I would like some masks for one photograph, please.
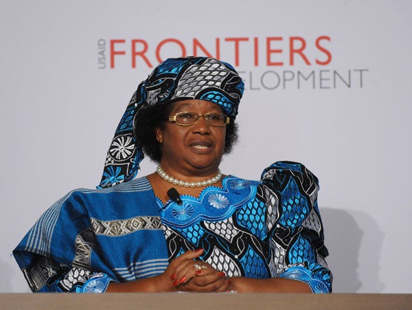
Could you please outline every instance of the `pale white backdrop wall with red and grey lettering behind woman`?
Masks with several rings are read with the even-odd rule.
[[[28,291],[11,252],[34,221],[100,181],[146,60],[185,52],[246,81],[223,172],[319,177],[334,291],[411,293],[411,17],[409,0],[1,1],[0,291]]]

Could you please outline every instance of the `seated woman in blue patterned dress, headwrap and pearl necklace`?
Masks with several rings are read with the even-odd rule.
[[[214,58],[168,59],[141,82],[98,190],[54,204],[14,250],[33,291],[329,292],[317,178],[277,162],[222,175],[243,82]],[[157,171],[133,179],[146,153]]]

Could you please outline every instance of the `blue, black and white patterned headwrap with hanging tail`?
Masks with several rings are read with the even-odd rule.
[[[137,175],[144,154],[133,134],[133,120],[139,110],[179,100],[199,99],[218,104],[230,118],[236,118],[244,83],[236,70],[207,57],[169,58],[139,84],[117,126],[108,148],[102,181],[107,188]],[[135,124],[139,126],[139,124]]]

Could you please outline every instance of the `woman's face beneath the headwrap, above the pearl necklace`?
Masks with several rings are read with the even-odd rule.
[[[222,113],[222,109],[205,100],[183,100],[174,102],[169,115],[179,112],[203,115]],[[190,126],[165,122],[163,129],[156,129],[157,141],[161,143],[161,166],[174,175],[214,174],[225,151],[225,135],[226,127],[210,126],[203,117]]]

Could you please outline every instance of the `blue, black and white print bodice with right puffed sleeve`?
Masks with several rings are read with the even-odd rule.
[[[317,178],[303,165],[277,162],[262,181],[225,177],[222,188],[205,188],[182,205],[160,199],[170,260],[203,248],[200,257],[227,274],[293,278],[316,293],[332,290],[325,262]]]

